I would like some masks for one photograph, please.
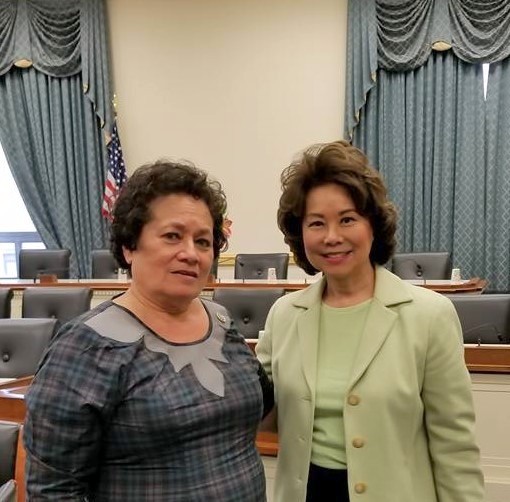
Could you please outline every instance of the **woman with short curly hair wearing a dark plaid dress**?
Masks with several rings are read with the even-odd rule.
[[[221,306],[199,298],[225,245],[221,186],[142,166],[113,211],[129,289],[63,326],[26,396],[34,501],[262,502],[272,387]]]

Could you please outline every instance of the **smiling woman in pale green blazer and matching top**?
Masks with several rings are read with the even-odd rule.
[[[269,313],[275,502],[482,502],[471,384],[451,302],[383,268],[396,211],[361,151],[307,150],[282,174],[278,224],[317,283]]]

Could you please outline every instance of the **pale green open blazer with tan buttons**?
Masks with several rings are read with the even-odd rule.
[[[325,280],[272,307],[256,352],[275,385],[275,502],[305,502]],[[344,410],[351,501],[482,502],[471,381],[448,298],[377,267]]]

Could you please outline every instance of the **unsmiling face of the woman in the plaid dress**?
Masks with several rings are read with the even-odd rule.
[[[149,301],[186,303],[204,288],[213,262],[213,220],[204,201],[186,194],[158,197],[136,249],[124,248],[133,286]]]

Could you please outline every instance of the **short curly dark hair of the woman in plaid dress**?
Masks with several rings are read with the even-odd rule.
[[[172,194],[191,195],[204,201],[213,220],[214,258],[226,247],[223,219],[227,200],[220,183],[191,163],[158,160],[139,167],[115,202],[110,248],[122,268],[130,269],[123,248],[136,249],[142,228],[151,218],[150,203],[157,197]]]

